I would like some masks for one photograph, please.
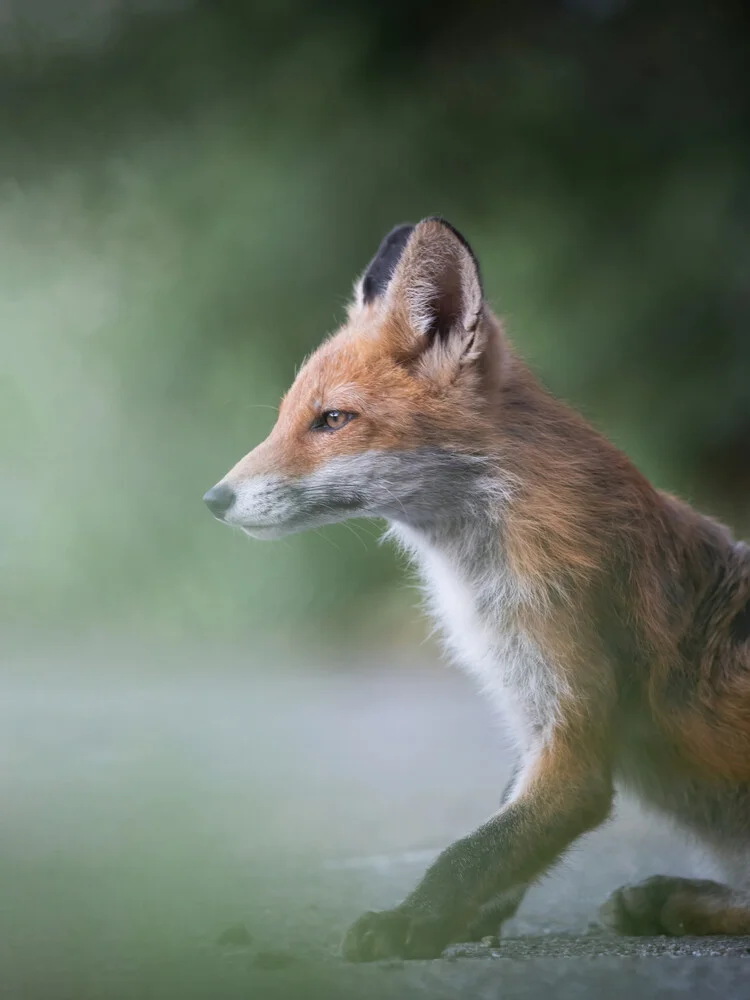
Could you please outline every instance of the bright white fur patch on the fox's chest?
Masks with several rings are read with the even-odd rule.
[[[518,626],[532,598],[501,555],[465,542],[435,545],[403,525],[391,534],[417,564],[447,648],[502,711],[522,749],[544,742],[558,715],[560,678]],[[479,546],[478,546],[479,548]]]

